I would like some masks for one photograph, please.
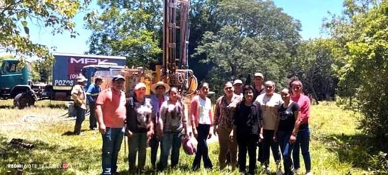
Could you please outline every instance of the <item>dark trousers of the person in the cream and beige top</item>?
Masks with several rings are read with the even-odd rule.
[[[275,163],[280,163],[280,151],[279,151],[279,142],[274,141],[274,130],[264,130],[263,131],[263,159],[264,164],[268,166],[270,164],[270,147],[272,154],[274,155]]]

